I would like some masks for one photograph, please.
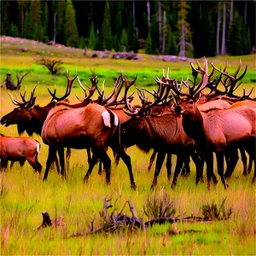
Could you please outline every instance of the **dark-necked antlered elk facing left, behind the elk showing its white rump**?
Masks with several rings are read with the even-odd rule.
[[[71,86],[73,84],[73,81],[77,78],[77,75],[73,78],[69,78],[69,73],[67,71],[67,90],[65,97],[63,97],[60,100],[64,100],[71,92]],[[49,113],[49,110],[53,107],[53,99],[44,107],[40,107],[38,105],[35,105],[36,101],[36,96],[34,96],[36,87],[32,90],[31,97],[28,101],[25,100],[26,96],[26,90],[24,94],[22,95],[20,93],[20,97],[22,99],[22,102],[18,102],[17,100],[14,99],[13,96],[11,97],[12,102],[15,104],[15,106],[18,106],[18,108],[15,108],[13,111],[10,113],[6,114],[3,116],[1,119],[1,124],[8,127],[9,125],[17,125],[18,128],[18,133],[22,134],[24,131],[29,136],[32,136],[33,133],[36,133],[38,135],[41,135],[42,127],[44,124],[44,120],[47,117],[47,114]],[[61,151],[59,151],[59,154]],[[67,148],[67,165],[68,165],[68,160],[70,158],[70,148]],[[60,172],[60,167],[58,164],[57,158],[56,160],[56,167],[57,167],[57,172]]]

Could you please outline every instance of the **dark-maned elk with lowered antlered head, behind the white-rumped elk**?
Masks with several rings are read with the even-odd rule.
[[[125,95],[131,85],[125,79]],[[166,91],[168,91],[167,89]],[[121,143],[126,148],[137,145],[138,148],[148,153],[151,148],[157,151],[156,167],[154,179],[151,185],[153,189],[157,184],[157,177],[160,173],[163,160],[168,154],[177,154],[177,164],[172,181],[174,188],[177,183],[177,176],[181,171],[186,154],[191,154],[198,168],[196,182],[201,177],[202,163],[195,155],[192,140],[185,134],[182,126],[182,118],[176,113],[166,111],[160,114],[152,114],[151,110],[158,103],[164,101],[166,94],[165,88],[161,88],[159,92],[154,91],[155,101],[147,102],[144,96],[140,96],[143,102],[141,108],[134,108],[126,101],[125,113],[131,115],[131,119],[121,125]]]

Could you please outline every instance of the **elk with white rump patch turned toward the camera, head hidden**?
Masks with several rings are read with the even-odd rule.
[[[52,93],[51,95],[56,97]],[[48,177],[49,166],[59,148],[93,148],[92,160],[84,182],[88,180],[93,166],[100,159],[106,170],[106,182],[110,183],[111,160],[105,149],[110,146],[124,160],[130,174],[131,188],[136,189],[131,159],[119,145],[118,127],[117,114],[99,104],[90,103],[81,108],[73,108],[72,105],[64,103],[56,105],[49,111],[41,133],[43,142],[49,145],[44,180]]]

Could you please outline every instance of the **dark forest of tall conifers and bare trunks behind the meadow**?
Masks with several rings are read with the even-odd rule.
[[[255,1],[1,1],[1,35],[81,49],[247,55]]]

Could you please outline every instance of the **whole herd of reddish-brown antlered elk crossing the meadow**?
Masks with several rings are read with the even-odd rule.
[[[191,63],[191,79],[188,77],[178,82],[176,78],[169,77],[168,69],[163,70],[160,79],[154,77],[158,85],[157,90],[151,92],[136,87],[137,101],[141,102],[140,104],[133,103],[134,95],[129,93],[131,86],[136,83],[137,76],[133,80],[128,80],[120,74],[113,84],[111,95],[105,96],[104,82],[101,89],[97,78],[90,77],[91,86],[86,84],[89,90],[87,94],[78,75],[71,79],[67,72],[67,90],[64,96],[56,96],[56,88],[54,92],[49,90],[51,100],[44,107],[36,104],[36,87],[28,100],[26,90],[23,94],[20,93],[21,101],[9,95],[17,108],[4,115],[1,124],[6,127],[17,125],[20,135],[26,131],[29,136],[36,133],[42,137],[44,144],[49,147],[44,180],[47,179],[53,162],[57,172],[60,172],[64,179],[67,178],[70,148],[76,148],[86,149],[88,154],[89,168],[84,176],[84,182],[88,182],[90,173],[100,161],[99,173],[102,172],[103,165],[106,182],[109,184],[111,160],[108,148],[111,148],[116,163],[118,164],[119,158],[124,161],[129,172],[131,188],[136,189],[131,157],[125,150],[136,145],[145,153],[154,149],[150,159],[152,165],[156,157],[151,188],[157,184],[166,155],[167,177],[171,179],[172,154],[177,156],[172,179],[173,189],[181,172],[189,174],[190,158],[195,163],[195,183],[203,182],[205,163],[207,189],[210,189],[212,181],[217,183],[213,154],[216,155],[218,176],[224,188],[227,188],[227,179],[239,160],[238,152],[241,154],[244,175],[254,167],[252,182],[255,183],[255,98],[251,97],[253,90],[248,95],[245,90],[242,96],[236,95],[241,84],[237,82],[244,77],[247,67],[238,76],[241,61],[233,75],[227,72],[227,63],[223,70],[211,63],[210,72],[206,58],[202,67],[199,61],[196,61],[196,64],[197,67]],[[75,79],[78,79],[85,96],[84,99],[79,99],[79,103],[71,104],[67,97],[71,93]],[[98,96],[93,100],[92,96],[96,91]],[[8,161],[20,161],[22,166],[27,160],[36,172],[41,173],[42,166],[38,162],[41,146],[38,141],[31,137],[8,137],[3,134],[0,134],[0,140],[2,169],[7,168]]]

